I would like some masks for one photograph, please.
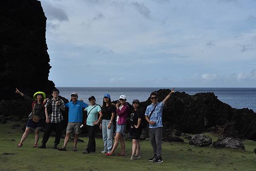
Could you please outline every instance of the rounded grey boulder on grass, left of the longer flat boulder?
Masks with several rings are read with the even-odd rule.
[[[189,145],[206,147],[212,144],[212,138],[204,134],[196,134],[189,140]]]

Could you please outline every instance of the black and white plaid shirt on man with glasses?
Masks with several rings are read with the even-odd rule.
[[[56,101],[54,101],[53,98],[49,99],[44,105],[44,107],[50,107],[50,104],[52,104],[52,113],[48,113],[49,120],[52,123],[58,123],[63,121],[63,117],[61,115],[61,108],[57,106],[57,101],[59,101],[61,105],[64,106],[64,101],[60,98],[58,98]]]

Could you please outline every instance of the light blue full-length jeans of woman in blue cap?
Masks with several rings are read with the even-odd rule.
[[[102,120],[102,139],[104,142],[104,151],[110,152],[113,145],[113,123],[111,124],[110,129],[108,129],[108,124],[110,120]]]

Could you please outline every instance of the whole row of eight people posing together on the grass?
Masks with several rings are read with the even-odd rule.
[[[44,136],[41,146],[38,148],[46,148],[46,143],[51,135],[52,131],[55,131],[55,142],[53,148],[60,151],[67,151],[67,143],[70,139],[70,134],[74,133],[73,151],[77,151],[77,142],[81,128],[87,126],[87,132],[89,136],[88,144],[84,154],[90,154],[96,151],[95,133],[99,126],[102,129],[102,139],[104,142],[102,154],[106,156],[113,156],[119,141],[121,144],[122,152],[117,154],[118,156],[125,156],[125,130],[127,124],[127,118],[130,118],[130,135],[132,137],[132,153],[131,160],[140,159],[140,136],[142,133],[142,122],[145,119],[148,122],[149,137],[151,146],[153,148],[154,156],[148,159],[148,161],[154,163],[162,163],[162,111],[164,104],[174,93],[174,88],[166,96],[166,98],[158,102],[158,93],[152,92],[150,95],[151,104],[146,108],[145,113],[140,108],[140,101],[134,99],[132,102],[132,109],[126,104],[125,95],[121,95],[116,104],[111,102],[111,96],[106,93],[103,96],[102,107],[96,104],[94,96],[89,97],[90,105],[86,104],[83,100],[78,100],[77,93],[71,93],[71,100],[68,103],[64,103],[59,98],[59,90],[52,90],[52,98],[46,99],[44,92],[36,92],[33,96],[34,99],[29,98],[25,94],[16,89],[16,93],[19,93],[27,101],[32,102],[32,112],[29,115],[28,122],[26,123],[26,130],[20,140],[17,147],[22,147],[28,133],[33,128],[35,129],[35,144],[34,148],[38,147],[39,130],[44,126]],[[62,147],[58,148],[58,144],[61,139],[61,123],[63,121],[62,112],[68,109],[68,124],[66,128],[66,137]],[[83,111],[87,111],[86,119],[83,121]],[[116,119],[116,120],[114,120]],[[113,142],[114,125],[116,121],[116,134]]]

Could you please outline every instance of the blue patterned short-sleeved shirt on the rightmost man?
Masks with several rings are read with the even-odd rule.
[[[155,122],[155,125],[149,124],[149,128],[163,127],[163,122],[162,122],[163,106],[164,106],[163,101],[158,103],[157,107],[155,109],[154,109],[155,105],[153,105],[153,104],[148,105],[146,112],[145,112],[145,116],[149,117],[151,111],[154,109],[154,112],[151,114],[149,120]]]

